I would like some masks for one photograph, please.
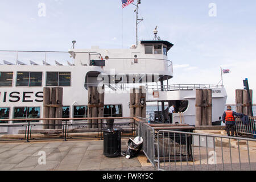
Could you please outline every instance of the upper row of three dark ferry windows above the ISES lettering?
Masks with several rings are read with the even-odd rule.
[[[42,86],[43,72],[17,72],[16,86]],[[13,72],[0,72],[0,86],[13,86]],[[46,72],[46,86],[71,86],[71,72]]]

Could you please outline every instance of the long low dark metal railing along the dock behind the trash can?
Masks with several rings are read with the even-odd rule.
[[[55,120],[62,119],[55,118]],[[92,118],[80,119],[83,120],[80,121],[79,118],[68,118],[61,124],[54,125],[31,122],[32,120],[39,121],[42,119],[26,119],[27,123],[23,125],[0,125],[0,141],[27,140],[29,142],[29,140],[103,138],[103,129],[106,128],[106,119],[109,118],[94,118],[97,119],[98,123],[89,123],[88,119]],[[84,119],[87,119],[87,121]],[[122,128],[123,137],[135,137],[135,120],[133,118],[113,119],[118,119],[114,122],[114,128]],[[129,120],[127,121],[127,119]],[[71,120],[76,120],[77,122],[71,122]]]

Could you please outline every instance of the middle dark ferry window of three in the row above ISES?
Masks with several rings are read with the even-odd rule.
[[[17,72],[16,86],[42,86],[42,72]]]

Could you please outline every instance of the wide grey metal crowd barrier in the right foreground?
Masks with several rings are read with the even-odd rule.
[[[160,130],[156,163],[160,171],[255,170],[256,140]]]

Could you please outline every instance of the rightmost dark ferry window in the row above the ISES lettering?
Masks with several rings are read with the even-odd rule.
[[[47,72],[46,86],[71,86],[71,72]]]

